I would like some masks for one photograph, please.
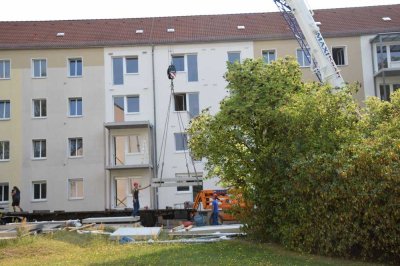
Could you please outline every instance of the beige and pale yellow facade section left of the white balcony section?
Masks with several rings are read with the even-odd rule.
[[[10,160],[0,162],[0,183],[19,186],[24,210],[104,209],[104,196],[98,197],[105,193],[103,54],[102,48],[0,53],[12,66],[11,78],[0,80],[0,100],[11,102],[11,119],[0,121],[11,147]],[[36,59],[45,62],[43,77],[34,77]],[[81,75],[70,75],[70,59],[80,60]],[[82,113],[71,115],[75,99]],[[34,115],[38,100],[44,115]],[[70,155],[71,139],[83,141],[79,156]],[[35,142],[43,145],[39,158]]]

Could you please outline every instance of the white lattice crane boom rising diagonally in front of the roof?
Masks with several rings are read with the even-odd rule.
[[[321,83],[345,85],[329,47],[304,0],[274,0]]]

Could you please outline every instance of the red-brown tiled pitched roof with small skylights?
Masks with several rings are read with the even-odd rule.
[[[315,10],[324,37],[400,32],[400,4]],[[384,21],[383,17],[391,20]],[[239,29],[238,26],[244,26]],[[167,32],[174,29],[174,32]],[[142,33],[137,33],[142,30]],[[57,36],[57,33],[63,36]],[[79,48],[292,38],[279,12],[0,22],[0,49]]]

